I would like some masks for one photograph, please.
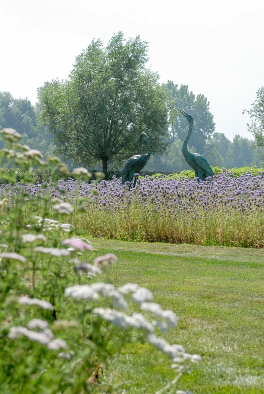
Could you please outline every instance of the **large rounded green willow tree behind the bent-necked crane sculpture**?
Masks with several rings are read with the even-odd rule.
[[[151,150],[166,149],[167,106],[158,74],[146,68],[148,44],[119,32],[107,46],[93,40],[76,57],[68,80],[38,89],[40,121],[54,134],[57,153],[91,166],[121,162],[139,153],[137,136],[149,135]]]

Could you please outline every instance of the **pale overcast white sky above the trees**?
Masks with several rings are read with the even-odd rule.
[[[264,0],[0,0],[0,91],[34,103],[93,38],[119,31],[149,42],[160,82],[207,97],[216,131],[252,138],[242,110],[264,86]]]

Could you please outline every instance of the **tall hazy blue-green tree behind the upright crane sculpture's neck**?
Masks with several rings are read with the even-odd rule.
[[[201,94],[195,96],[193,92],[189,92],[188,85],[178,87],[172,81],[168,81],[166,84],[163,84],[163,87],[167,92],[171,105],[170,125],[172,140],[178,137],[183,141],[188,130],[185,117],[177,112],[178,108],[182,108],[194,118],[190,145],[195,147],[200,153],[204,150],[210,135],[215,131],[213,115],[209,111],[209,101]]]

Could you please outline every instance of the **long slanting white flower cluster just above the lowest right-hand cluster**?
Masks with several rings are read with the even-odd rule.
[[[148,332],[153,332],[153,326],[144,318],[141,313],[133,313],[132,316],[126,315],[126,313],[115,311],[114,309],[95,308],[93,313],[99,315],[102,319],[111,322],[114,326],[121,327],[124,329],[143,328]]]

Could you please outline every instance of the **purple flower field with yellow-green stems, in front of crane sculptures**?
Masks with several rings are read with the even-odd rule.
[[[18,184],[1,186],[0,195],[17,193]],[[21,186],[29,197],[42,193],[41,185]],[[47,185],[51,197],[73,202],[88,197],[89,183],[59,181]],[[264,243],[264,172],[197,179],[139,179],[136,188],[120,179],[101,181],[98,195],[87,202],[77,229],[94,236],[137,241],[191,242],[262,247]]]

